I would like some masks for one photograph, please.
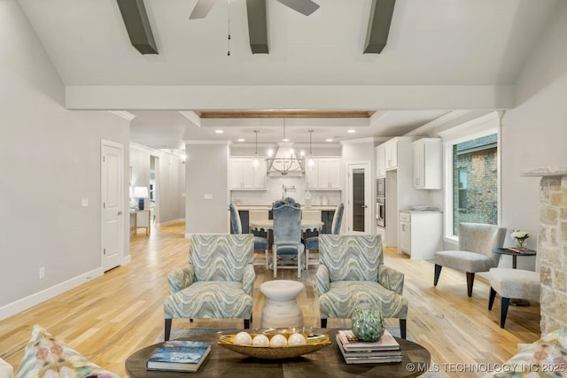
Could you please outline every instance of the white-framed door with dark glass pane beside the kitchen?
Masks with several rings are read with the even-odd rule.
[[[349,234],[372,234],[370,229],[371,194],[370,164],[347,165],[347,214]]]

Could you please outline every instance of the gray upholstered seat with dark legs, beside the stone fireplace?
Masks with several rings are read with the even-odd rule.
[[[488,310],[493,309],[496,293],[501,297],[500,328],[506,324],[511,298],[540,301],[540,274],[524,269],[493,267],[490,269]]]

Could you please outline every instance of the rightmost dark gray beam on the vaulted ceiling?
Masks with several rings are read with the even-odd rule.
[[[379,54],[388,42],[393,7],[396,0],[372,0],[369,27],[366,32],[365,54]]]

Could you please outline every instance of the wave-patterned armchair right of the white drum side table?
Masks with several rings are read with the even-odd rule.
[[[384,266],[379,235],[319,235],[316,280],[322,328],[327,319],[351,318],[357,305],[369,303],[384,318],[400,319],[400,335],[406,338],[404,275]]]

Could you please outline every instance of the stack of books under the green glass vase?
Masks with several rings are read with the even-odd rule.
[[[401,362],[400,344],[388,330],[377,342],[363,342],[350,329],[337,332],[338,349],[347,364],[390,364]]]

